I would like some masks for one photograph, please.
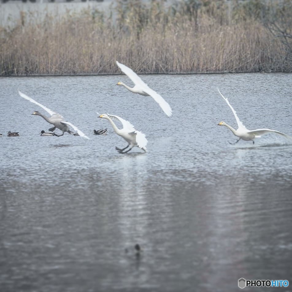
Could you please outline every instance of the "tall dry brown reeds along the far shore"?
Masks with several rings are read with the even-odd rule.
[[[138,73],[292,71],[287,46],[266,25],[284,15],[285,26],[290,3],[189,0],[166,7],[128,0],[110,16],[22,14],[13,29],[0,30],[0,73],[113,74],[115,60]]]

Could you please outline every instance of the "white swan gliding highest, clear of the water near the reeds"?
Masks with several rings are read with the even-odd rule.
[[[133,88],[127,86],[123,82],[118,82],[117,85],[123,85],[128,90],[132,91],[133,93],[138,93],[144,96],[151,96],[162,108],[163,112],[170,117],[172,115],[172,109],[170,105],[163,99],[163,97],[149,88],[149,86],[142,81],[142,79],[129,67],[119,63],[118,61],[117,65],[120,67],[121,71],[123,71],[132,81],[135,83],[135,86]]]

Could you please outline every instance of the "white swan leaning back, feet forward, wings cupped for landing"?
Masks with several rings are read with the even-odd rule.
[[[102,115],[100,115],[99,113],[97,114],[98,117],[109,120],[109,122],[113,126],[114,131],[128,142],[128,145],[125,148],[121,149],[116,147],[118,152],[127,153],[135,146],[141,148],[142,150],[144,150],[144,152],[147,152],[146,145],[148,141],[145,138],[145,134],[135,130],[134,126],[129,121],[126,121],[118,116],[110,115],[108,113],[104,113]],[[113,122],[113,120],[121,122],[123,128],[119,129]],[[128,147],[130,148],[127,151],[124,151]]]

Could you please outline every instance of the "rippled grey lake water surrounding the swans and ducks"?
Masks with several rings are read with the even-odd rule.
[[[292,74],[141,77],[172,117],[117,86],[125,75],[0,78],[1,292],[236,291],[241,277],[292,291],[292,143],[230,145],[217,126],[236,127],[219,87],[248,129],[292,135]],[[31,114],[48,113],[18,90],[90,140],[41,137],[51,125]],[[118,153],[125,140],[96,112],[129,120],[148,153]]]

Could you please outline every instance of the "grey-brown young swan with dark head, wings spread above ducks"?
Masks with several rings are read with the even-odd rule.
[[[74,126],[73,124],[64,121],[64,118],[59,114],[59,113],[55,113],[53,112],[51,109],[48,109],[47,107],[43,106],[42,104],[40,104],[39,102],[36,102],[33,98],[28,97],[26,94],[18,91],[19,95],[27,100],[29,100],[30,102],[35,103],[36,105],[40,106],[41,108],[43,108],[45,111],[47,111],[51,117],[46,117],[44,116],[42,113],[35,111],[32,114],[33,115],[38,115],[43,117],[48,123],[54,125],[54,127],[50,128],[49,131],[54,131],[56,128],[60,129],[63,133],[61,135],[57,135],[58,137],[63,136],[64,132],[68,132],[69,134],[73,134],[72,131],[70,131],[68,125],[73,128],[75,131],[77,131],[77,133],[79,134],[79,136],[89,139],[82,131],[80,131],[76,126]]]

